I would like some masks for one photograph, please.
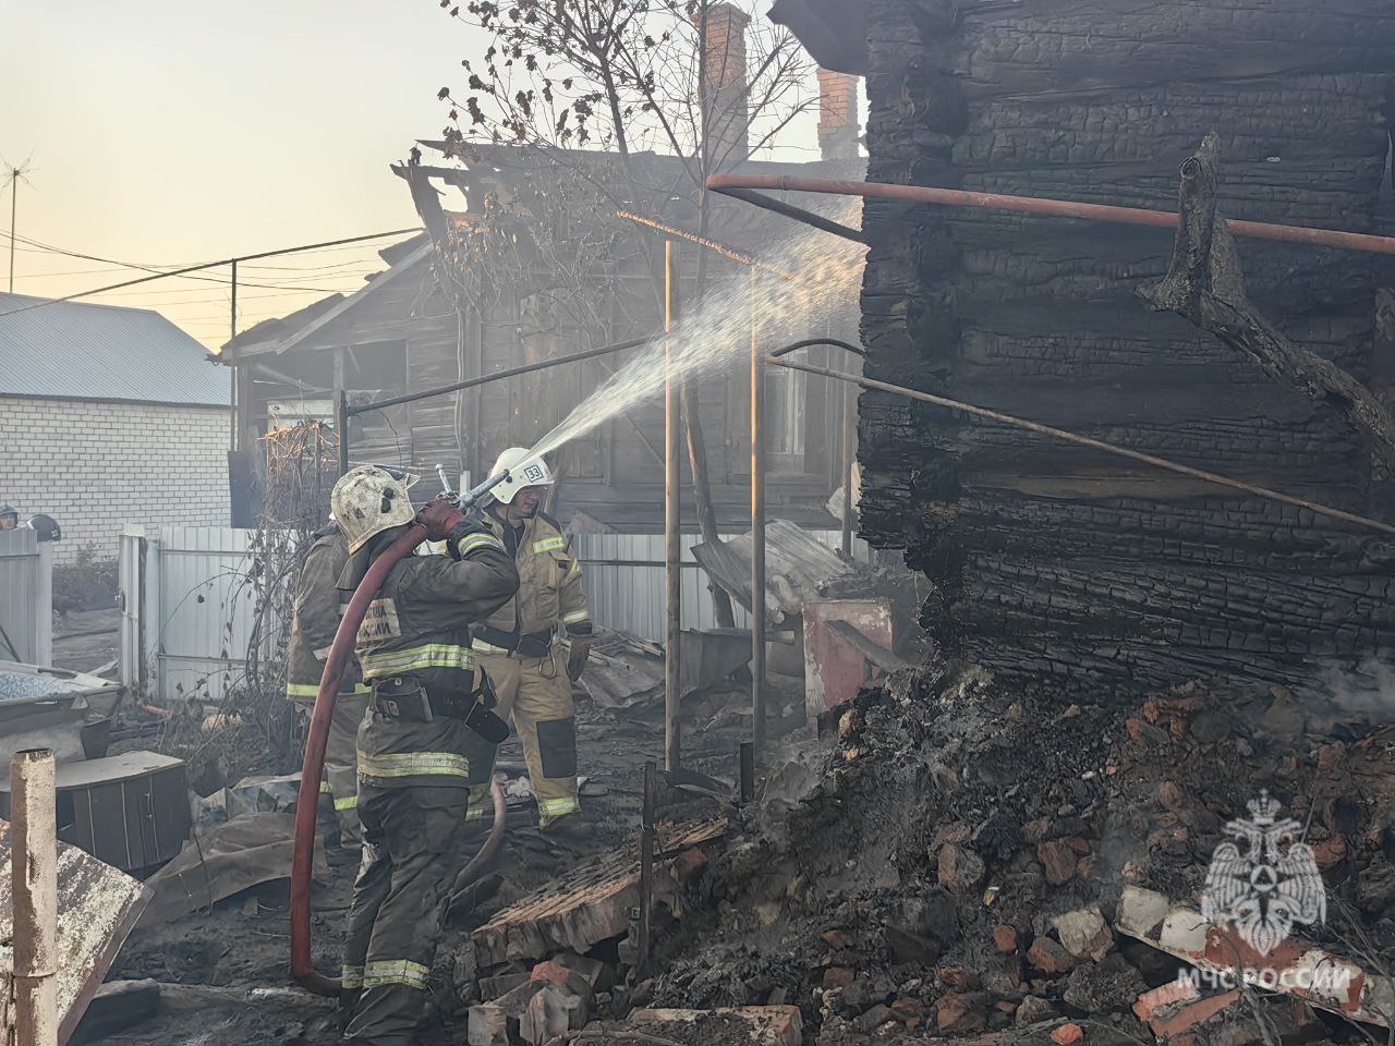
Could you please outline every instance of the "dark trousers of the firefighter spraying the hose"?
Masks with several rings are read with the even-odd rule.
[[[465,861],[469,795],[463,787],[361,787],[364,855],[343,953],[347,1042],[417,1042],[441,916]]]

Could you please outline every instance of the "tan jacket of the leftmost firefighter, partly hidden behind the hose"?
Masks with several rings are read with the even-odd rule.
[[[312,537],[296,579],[296,616],[290,623],[290,644],[286,649],[286,696],[293,702],[315,700],[329,644],[335,640],[339,618],[353,594],[335,587],[349,562],[349,543],[339,527],[331,523]],[[339,693],[368,693],[354,657],[345,665]]]

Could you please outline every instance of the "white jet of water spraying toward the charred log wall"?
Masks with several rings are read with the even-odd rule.
[[[661,396],[665,377],[702,382],[749,367],[752,332],[762,349],[824,332],[823,322],[857,301],[866,248],[799,229],[746,268],[710,286],[677,331],[643,349],[533,446],[545,455],[604,421]],[[776,269],[780,272],[771,272]],[[785,275],[781,275],[785,273]],[[810,331],[810,325],[815,325]]]

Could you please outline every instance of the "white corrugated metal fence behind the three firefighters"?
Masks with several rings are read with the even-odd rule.
[[[837,530],[812,531],[837,548]],[[121,682],[148,699],[219,700],[247,667],[255,614],[247,572],[251,530],[137,527],[121,534]],[[724,534],[735,537],[735,534]],[[692,556],[696,534],[684,534],[685,629],[716,628],[707,575]],[[586,570],[591,619],[601,628],[663,643],[664,536],[578,534],[573,548]],[[869,556],[857,541],[854,555]],[[748,626],[735,607],[738,628]]]

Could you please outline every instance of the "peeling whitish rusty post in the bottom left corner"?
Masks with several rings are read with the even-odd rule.
[[[10,763],[15,1046],[57,1046],[59,841],[53,753]]]

